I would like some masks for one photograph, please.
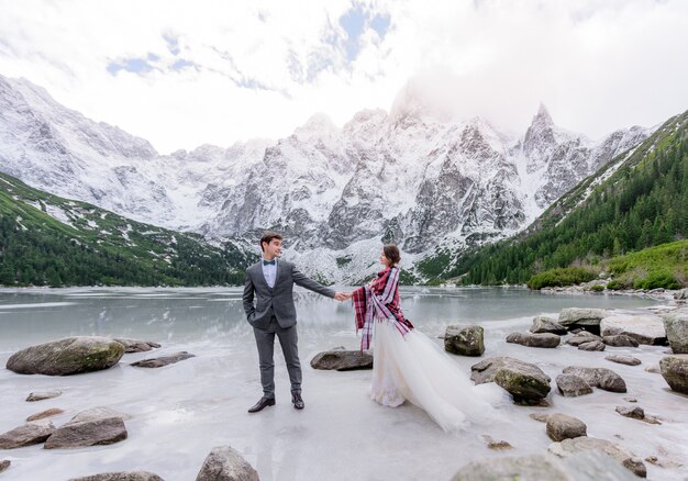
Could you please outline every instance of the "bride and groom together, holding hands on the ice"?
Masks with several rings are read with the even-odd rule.
[[[304,407],[298,353],[293,284],[337,301],[353,299],[360,348],[369,349],[375,336],[370,396],[387,406],[406,400],[423,409],[444,430],[467,425],[468,420],[491,417],[502,394],[486,384],[473,385],[458,365],[432,339],[419,333],[403,316],[399,303],[399,249],[386,245],[380,253],[382,270],[353,292],[335,292],[301,273],[291,262],[278,260],[282,237],[266,232],[260,237],[263,259],[246,269],[243,303],[258,348],[263,396],[248,412],[275,405],[275,336],[279,339],[293,407]]]

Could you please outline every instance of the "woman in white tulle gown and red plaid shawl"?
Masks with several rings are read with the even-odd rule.
[[[397,246],[384,246],[385,268],[367,286],[347,294],[356,313],[356,333],[362,331],[362,350],[370,347],[375,334],[370,396],[386,406],[408,400],[446,432],[493,420],[492,404],[503,398],[503,391],[492,383],[474,385],[446,353],[403,316],[400,260]]]

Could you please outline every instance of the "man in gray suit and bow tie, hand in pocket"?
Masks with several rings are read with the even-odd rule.
[[[281,345],[289,371],[291,402],[297,410],[303,409],[293,284],[337,301],[346,300],[344,293],[334,292],[303,276],[293,264],[278,260],[277,256],[281,254],[281,235],[275,232],[264,233],[260,237],[263,259],[246,269],[244,311],[256,337],[260,383],[263,384],[263,398],[248,410],[249,413],[257,413],[267,406],[275,405],[275,363],[273,360],[275,335]],[[253,303],[254,294],[257,298],[256,305]]]

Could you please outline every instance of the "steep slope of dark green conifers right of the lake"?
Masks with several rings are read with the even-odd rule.
[[[688,112],[590,176],[521,235],[463,253],[448,269],[435,266],[451,262],[452,253],[419,267],[435,279],[460,277],[463,283],[524,283],[543,270],[596,266],[687,236]]]

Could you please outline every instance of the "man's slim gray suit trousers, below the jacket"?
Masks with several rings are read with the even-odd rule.
[[[285,355],[287,370],[289,371],[289,381],[291,382],[291,392],[301,393],[301,362],[299,361],[299,348],[297,335],[297,326],[280,327],[277,320],[273,317],[267,329],[253,328],[256,337],[256,346],[258,347],[258,362],[260,365],[260,383],[263,384],[263,395],[265,398],[275,398],[275,334],[279,339],[281,351]]]

